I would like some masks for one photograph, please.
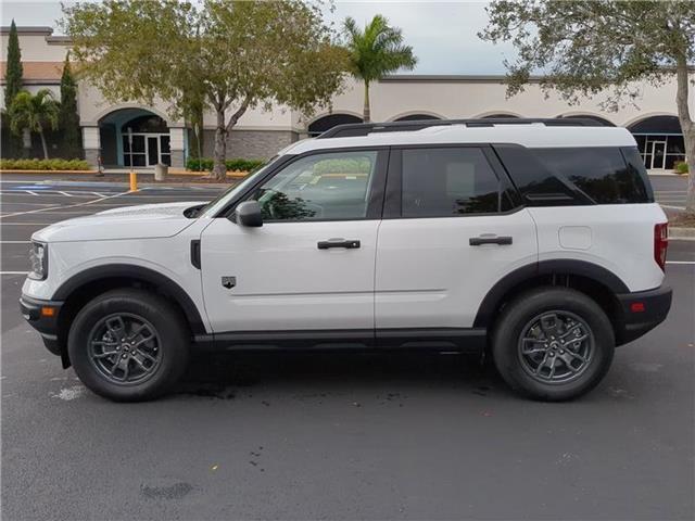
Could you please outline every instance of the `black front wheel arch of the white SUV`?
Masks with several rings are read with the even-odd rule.
[[[156,291],[179,308],[186,317],[192,334],[205,334],[205,326],[192,298],[170,278],[150,268],[129,264],[110,264],[86,269],[66,281],[55,291],[52,300],[63,301],[58,317],[58,340],[61,345],[63,365],[67,332],[72,319],[93,297],[117,288],[144,288]]]

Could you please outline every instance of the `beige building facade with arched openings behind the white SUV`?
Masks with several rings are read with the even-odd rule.
[[[29,91],[51,89],[56,98],[70,39],[53,36],[50,27],[17,27],[24,85]],[[0,29],[0,75],[4,82],[9,28]],[[693,76],[695,79],[695,75]],[[607,110],[604,97],[570,105],[558,96],[545,96],[538,82],[525,92],[506,97],[503,76],[397,75],[372,85],[375,122],[422,118],[484,117],[591,117],[604,125],[628,128],[634,136],[645,166],[671,169],[684,160],[683,135],[675,112],[675,80],[660,86],[639,86],[641,94],[630,105]],[[168,104],[109,103],[100,91],[79,84],[78,111],[85,157],[106,167],[150,167],[157,163],[182,167],[189,154],[190,129],[170,117]],[[314,115],[275,105],[269,111],[248,111],[228,137],[229,157],[267,158],[298,139],[315,136],[342,123],[362,122],[362,86],[350,79],[331,109]],[[695,103],[691,96],[691,111]],[[205,156],[212,156],[215,115],[204,115]]]

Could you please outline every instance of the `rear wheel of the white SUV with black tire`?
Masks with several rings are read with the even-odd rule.
[[[596,302],[572,289],[545,287],[504,307],[493,332],[492,355],[515,391],[560,402],[601,382],[615,345],[610,320]]]

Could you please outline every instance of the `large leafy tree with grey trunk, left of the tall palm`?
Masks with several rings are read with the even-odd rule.
[[[80,74],[112,101],[156,99],[172,115],[216,115],[215,175],[227,135],[251,107],[311,114],[341,88],[344,54],[317,7],[300,0],[108,0],[64,9]]]

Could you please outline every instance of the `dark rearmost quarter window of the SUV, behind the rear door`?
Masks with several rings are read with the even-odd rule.
[[[548,170],[570,181],[597,204],[644,203],[650,200],[640,173],[618,148],[533,149]]]

